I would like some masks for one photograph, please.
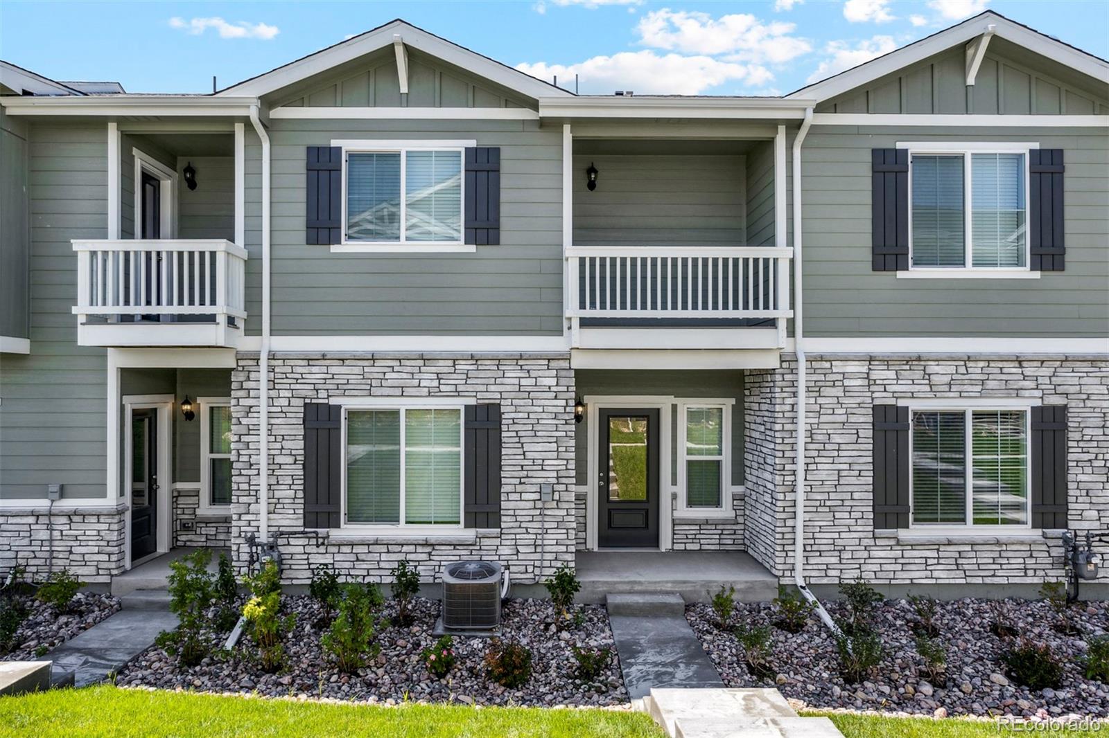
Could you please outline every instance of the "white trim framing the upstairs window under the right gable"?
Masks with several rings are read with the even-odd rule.
[[[897,148],[908,150],[908,269],[897,271],[899,279],[1039,279],[1040,273],[1031,269],[1031,156],[1028,152],[1039,148],[1036,142],[985,141],[898,141]],[[948,154],[963,156],[963,266],[913,266],[913,154]],[[1025,266],[975,267],[973,238],[973,174],[971,154],[1022,154],[1025,157]]]

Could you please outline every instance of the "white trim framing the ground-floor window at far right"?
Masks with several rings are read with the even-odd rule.
[[[1027,536],[1029,531],[1036,529],[1032,527],[1032,494],[1031,494],[1031,408],[1034,402],[1026,401],[1022,399],[1007,399],[1007,398],[987,398],[981,400],[967,401],[966,399],[959,398],[923,398],[919,400],[898,400],[898,406],[908,407],[909,417],[909,431],[908,431],[908,458],[909,458],[909,473],[908,473],[908,501],[909,501],[909,513],[908,513],[908,530],[913,531],[913,534],[919,533],[920,535],[938,535],[938,536],[981,536],[991,535],[998,537],[1006,536]],[[950,523],[917,523],[914,521],[913,506],[916,502],[915,491],[913,489],[913,412],[916,410],[928,411],[928,410],[944,410],[944,411],[955,411],[959,410],[966,414],[966,429],[967,433],[973,432],[973,427],[970,423],[970,413],[976,410],[1014,410],[1025,413],[1025,484],[1027,489],[1025,490],[1025,520],[1024,525],[976,525],[974,521],[974,500],[970,495],[970,484],[974,480],[973,475],[973,454],[974,444],[970,442],[971,439],[964,439],[963,454],[966,464],[966,479],[964,481],[964,504],[966,505],[965,512],[965,524],[950,524]]]

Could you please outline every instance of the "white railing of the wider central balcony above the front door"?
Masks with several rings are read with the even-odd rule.
[[[788,318],[792,253],[763,246],[570,247],[567,317]]]

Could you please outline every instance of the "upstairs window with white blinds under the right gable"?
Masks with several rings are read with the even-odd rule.
[[[1030,144],[909,147],[912,269],[1028,269]]]

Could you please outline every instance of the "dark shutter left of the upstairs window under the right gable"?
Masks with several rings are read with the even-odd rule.
[[[908,150],[871,150],[872,270],[908,269]]]

